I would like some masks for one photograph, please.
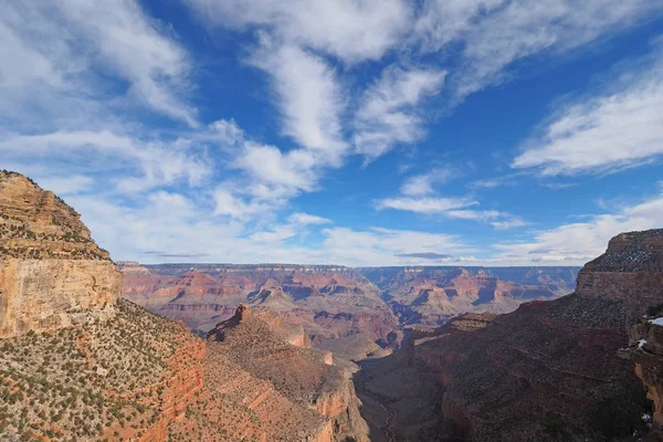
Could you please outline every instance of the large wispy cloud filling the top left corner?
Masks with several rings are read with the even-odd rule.
[[[8,117],[15,117],[13,106],[54,119],[66,120],[61,113],[90,119],[105,112],[95,101],[113,104],[117,92],[107,78],[116,75],[129,85],[123,98],[197,125],[196,110],[181,98],[188,55],[136,1],[3,3],[0,35],[0,113]]]

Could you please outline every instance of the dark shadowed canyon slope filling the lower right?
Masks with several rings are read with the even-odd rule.
[[[662,238],[620,234],[568,296],[413,327],[399,352],[362,362],[357,390],[376,440],[641,440],[652,403],[639,377],[660,425],[663,351],[656,325],[645,320],[631,338],[629,329],[663,303]],[[408,379],[400,391],[388,388],[394,377]],[[408,413],[412,403],[418,415]]]

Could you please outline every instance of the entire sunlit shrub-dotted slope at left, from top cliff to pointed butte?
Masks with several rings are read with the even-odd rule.
[[[351,381],[302,327],[241,308],[201,339],[148,313],[75,211],[1,177],[0,440],[367,440]]]

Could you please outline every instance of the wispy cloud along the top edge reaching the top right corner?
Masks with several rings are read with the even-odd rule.
[[[429,51],[462,43],[461,69],[450,82],[462,98],[503,81],[518,60],[575,50],[661,11],[662,3],[648,0],[433,0],[415,35]]]

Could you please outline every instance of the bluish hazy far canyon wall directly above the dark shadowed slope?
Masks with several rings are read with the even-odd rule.
[[[464,313],[508,313],[575,286],[575,267],[368,267],[402,324],[438,326]]]

